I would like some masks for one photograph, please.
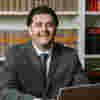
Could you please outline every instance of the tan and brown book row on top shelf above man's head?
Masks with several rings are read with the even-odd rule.
[[[79,0],[0,0],[0,11],[28,11],[32,7],[47,5],[55,10],[78,9]]]

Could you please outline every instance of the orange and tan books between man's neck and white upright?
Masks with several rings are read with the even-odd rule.
[[[72,48],[77,47],[78,34],[76,30],[58,29],[56,34],[56,42]]]

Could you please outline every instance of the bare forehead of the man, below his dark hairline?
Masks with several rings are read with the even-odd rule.
[[[50,14],[37,14],[32,17],[33,22],[53,22],[53,17]]]

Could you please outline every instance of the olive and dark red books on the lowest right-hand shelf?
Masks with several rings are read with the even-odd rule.
[[[86,58],[85,67],[88,71],[88,80],[92,83],[100,82],[100,58]]]

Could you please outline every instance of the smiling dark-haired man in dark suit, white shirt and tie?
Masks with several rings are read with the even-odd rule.
[[[16,89],[44,100],[55,98],[60,88],[84,84],[76,51],[54,42],[58,26],[55,12],[45,6],[33,8],[27,26],[32,46],[8,50],[9,71]],[[43,62],[45,55],[48,58]]]

